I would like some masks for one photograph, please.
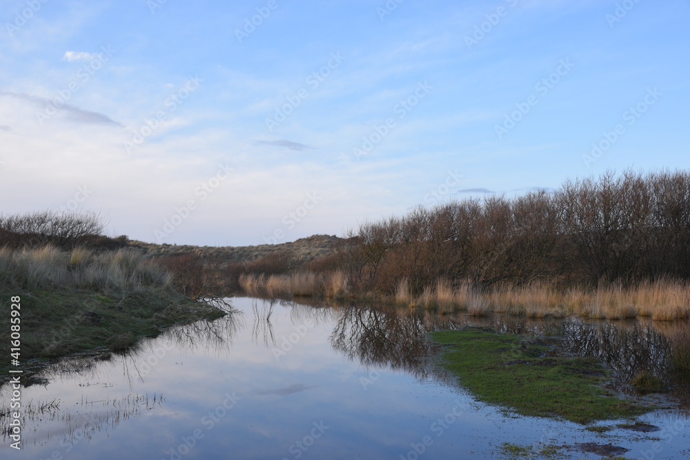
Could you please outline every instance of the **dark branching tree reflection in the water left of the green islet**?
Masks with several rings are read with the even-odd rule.
[[[389,366],[419,379],[431,377],[428,359],[436,346],[426,333],[462,326],[451,317],[382,306],[343,306],[337,310],[331,346],[364,366]]]

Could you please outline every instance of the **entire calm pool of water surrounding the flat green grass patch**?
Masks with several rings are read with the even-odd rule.
[[[46,369],[39,377],[47,380],[21,390],[22,450],[10,448],[5,429],[1,456],[599,459],[602,454],[589,451],[595,449],[581,448],[595,445],[627,449],[631,459],[689,454],[682,382],[658,400],[664,410],[639,418],[658,430],[610,421],[597,423],[605,428],[594,432],[475,401],[433,366],[437,348],[426,337],[467,324],[543,334],[565,352],[601,359],[626,381],[642,368],[668,375],[667,331],[651,321],[473,319],[248,298],[231,303],[237,311],[228,317],[173,328],[126,356],[70,359]],[[632,394],[620,382],[611,386]],[[0,390],[2,412],[11,391]]]

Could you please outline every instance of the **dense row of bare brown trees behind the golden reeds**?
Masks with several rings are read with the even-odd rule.
[[[609,172],[560,190],[417,208],[348,234],[356,292],[417,294],[439,279],[489,287],[690,278],[690,172]]]

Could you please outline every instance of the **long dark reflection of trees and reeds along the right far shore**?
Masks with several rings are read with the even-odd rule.
[[[630,381],[643,370],[671,386],[679,409],[690,410],[690,379],[679,377],[670,365],[674,343],[669,337],[687,328],[684,321],[583,321],[582,319],[526,319],[494,315],[471,318],[465,314],[438,315],[427,310],[385,306],[341,306],[336,312],[331,345],[364,366],[404,370],[419,379],[442,378],[429,366],[437,348],[427,332],[485,326],[506,334],[549,337],[561,352],[593,357],[615,373],[611,386],[632,393]]]

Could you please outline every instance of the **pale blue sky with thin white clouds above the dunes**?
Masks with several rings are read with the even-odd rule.
[[[689,0],[0,0],[0,212],[342,236],[687,168]]]

